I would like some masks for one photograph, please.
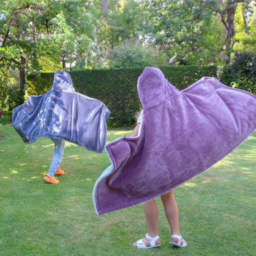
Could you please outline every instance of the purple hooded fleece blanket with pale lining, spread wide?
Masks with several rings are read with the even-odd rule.
[[[239,146],[256,129],[256,97],[202,78],[185,90],[158,68],[138,78],[145,117],[137,137],[106,145],[109,166],[94,186],[97,214],[134,206],[181,185]]]

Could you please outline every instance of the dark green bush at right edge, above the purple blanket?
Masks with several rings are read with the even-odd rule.
[[[247,90],[256,95],[256,55],[240,52],[234,55],[233,63],[223,70],[221,80],[234,88]]]

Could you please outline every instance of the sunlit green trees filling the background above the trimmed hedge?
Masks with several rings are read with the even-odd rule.
[[[235,54],[255,53],[255,5],[252,0],[1,1],[0,107],[12,108],[10,98],[22,101],[25,74],[42,71],[192,64],[222,70]]]

